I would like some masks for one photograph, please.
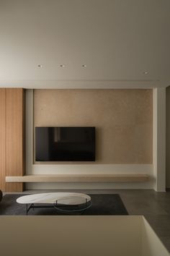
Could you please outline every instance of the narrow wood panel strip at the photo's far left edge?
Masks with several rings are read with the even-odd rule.
[[[5,192],[6,176],[6,89],[0,88],[0,189]]]

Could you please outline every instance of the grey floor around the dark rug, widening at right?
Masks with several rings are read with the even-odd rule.
[[[66,192],[66,190],[64,190]],[[52,192],[51,190],[29,190],[26,193]],[[61,192],[61,190],[53,190]],[[62,190],[63,192],[63,190]],[[143,215],[163,244],[170,252],[170,191],[155,192],[151,189],[112,189],[112,190],[69,190],[89,194],[119,194],[130,215]],[[161,256],[161,255],[160,255]]]

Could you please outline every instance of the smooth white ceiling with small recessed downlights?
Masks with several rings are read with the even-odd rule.
[[[169,0],[0,0],[0,87],[168,85]]]

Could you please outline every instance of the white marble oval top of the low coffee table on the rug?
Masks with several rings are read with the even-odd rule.
[[[17,202],[21,204],[32,203],[55,203],[63,205],[80,205],[85,202],[91,201],[91,197],[81,193],[68,193],[68,192],[51,192],[40,193],[34,195],[24,195],[17,198]]]

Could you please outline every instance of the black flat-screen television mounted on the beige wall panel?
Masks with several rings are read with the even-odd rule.
[[[95,127],[35,127],[35,161],[95,161]]]

